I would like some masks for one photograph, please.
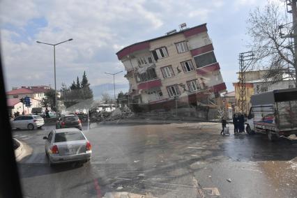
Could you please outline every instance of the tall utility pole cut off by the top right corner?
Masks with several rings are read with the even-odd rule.
[[[297,0],[287,0],[287,12],[292,13],[292,20],[293,20],[293,33],[290,34],[288,37],[294,38],[294,63],[295,63],[295,73],[297,73]],[[289,10],[288,6],[291,6],[291,10]],[[295,78],[297,84],[297,77]]]

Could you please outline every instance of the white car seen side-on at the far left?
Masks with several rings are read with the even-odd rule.
[[[17,116],[11,121],[12,128],[27,128],[33,130],[34,128],[42,128],[45,125],[45,121],[41,116],[30,115],[30,116]]]

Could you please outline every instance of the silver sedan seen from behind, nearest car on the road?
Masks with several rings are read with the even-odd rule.
[[[63,162],[88,162],[91,160],[91,144],[77,128],[52,130],[45,141],[45,154],[50,166]]]

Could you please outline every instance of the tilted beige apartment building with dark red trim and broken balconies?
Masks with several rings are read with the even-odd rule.
[[[206,24],[129,45],[116,55],[127,71],[129,95],[139,104],[218,102],[226,89]]]

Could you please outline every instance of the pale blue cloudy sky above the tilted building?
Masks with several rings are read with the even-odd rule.
[[[248,13],[265,0],[109,0],[109,1],[0,1],[1,54],[6,90],[13,86],[54,86],[53,47],[56,46],[56,82],[68,85],[82,78],[91,85],[128,84],[116,52],[121,48],[163,36],[185,22],[207,23],[215,56],[229,91],[237,81],[238,53],[248,50]]]

